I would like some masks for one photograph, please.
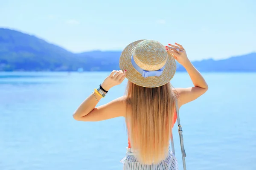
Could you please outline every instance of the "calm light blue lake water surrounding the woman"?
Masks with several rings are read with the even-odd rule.
[[[0,170],[121,170],[125,120],[77,122],[72,117],[107,75],[0,73]],[[209,91],[180,108],[187,169],[256,170],[256,74],[203,75]],[[99,104],[122,96],[125,84]],[[192,82],[186,73],[177,73],[172,85]]]

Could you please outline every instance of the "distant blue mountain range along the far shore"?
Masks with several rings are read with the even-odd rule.
[[[111,71],[119,69],[121,51],[74,54],[19,31],[0,28],[0,71]],[[192,62],[199,71],[256,71],[256,53]],[[177,64],[177,71],[185,69]]]

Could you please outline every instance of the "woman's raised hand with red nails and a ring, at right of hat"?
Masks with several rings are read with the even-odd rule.
[[[172,56],[177,60],[177,62],[179,62],[183,66],[190,63],[183,46],[177,43],[175,44],[176,45],[168,44],[169,46],[166,46],[167,52],[169,54],[172,54]]]

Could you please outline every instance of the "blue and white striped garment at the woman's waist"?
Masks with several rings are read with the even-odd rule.
[[[126,156],[120,161],[124,164],[123,170],[178,170],[177,159],[170,149],[169,156],[158,164],[141,164],[136,156],[137,154],[127,147]]]

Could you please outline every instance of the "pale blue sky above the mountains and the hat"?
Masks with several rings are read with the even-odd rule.
[[[256,0],[0,0],[1,27],[75,53],[150,39],[224,59],[256,52]]]

